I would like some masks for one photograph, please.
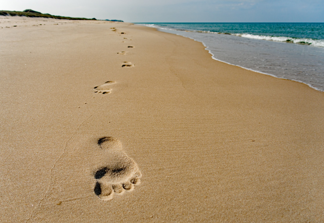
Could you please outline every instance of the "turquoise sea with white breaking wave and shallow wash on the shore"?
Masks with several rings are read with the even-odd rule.
[[[324,23],[137,23],[202,42],[216,60],[324,91]]]

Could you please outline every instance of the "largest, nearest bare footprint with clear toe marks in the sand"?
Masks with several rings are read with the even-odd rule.
[[[107,163],[94,171],[96,179],[94,193],[102,200],[113,199],[114,194],[121,195],[132,191],[140,184],[142,173],[135,161],[123,151],[122,143],[113,137],[103,137],[98,140],[102,156],[107,157]]]

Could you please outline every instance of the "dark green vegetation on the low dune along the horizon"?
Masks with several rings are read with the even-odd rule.
[[[74,17],[66,17],[59,15],[51,15],[51,14],[43,14],[38,11],[34,11],[31,9],[26,9],[23,11],[6,11],[0,10],[0,15],[11,15],[11,16],[26,16],[26,17],[44,17],[44,18],[58,18],[58,19],[70,19],[70,20],[97,20],[96,18],[74,18]]]

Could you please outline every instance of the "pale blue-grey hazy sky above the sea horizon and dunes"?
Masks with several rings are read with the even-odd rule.
[[[127,22],[324,22],[324,0],[0,0],[0,7]]]

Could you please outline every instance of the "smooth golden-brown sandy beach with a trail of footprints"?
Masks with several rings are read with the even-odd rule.
[[[0,67],[1,223],[324,222],[323,92],[109,21],[1,16]]]

